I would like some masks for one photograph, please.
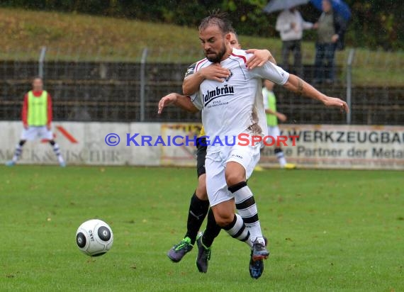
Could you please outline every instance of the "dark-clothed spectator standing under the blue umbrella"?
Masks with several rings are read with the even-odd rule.
[[[335,1],[335,3],[337,2],[340,3],[341,1]],[[314,83],[326,82],[331,84],[335,81],[335,50],[337,47],[339,49],[343,47],[342,40],[347,23],[342,18],[343,16],[333,9],[332,0],[322,0],[321,4],[321,16],[313,26],[318,30],[317,42],[315,43]]]

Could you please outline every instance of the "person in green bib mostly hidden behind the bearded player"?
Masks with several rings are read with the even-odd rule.
[[[272,136],[276,139],[277,136],[281,135],[281,131],[278,127],[278,119],[281,122],[285,122],[287,120],[286,116],[283,113],[279,113],[276,111],[276,96],[274,94],[274,83],[269,80],[264,81],[264,87],[262,88],[262,97],[264,98],[264,107],[266,113],[266,123],[268,125],[268,135]],[[294,169],[296,168],[295,164],[287,163],[284,152],[281,147],[275,148],[275,155],[278,159],[279,165],[284,169]]]

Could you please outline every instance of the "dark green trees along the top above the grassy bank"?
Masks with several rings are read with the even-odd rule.
[[[262,9],[268,0],[3,0],[0,6],[23,9],[55,10],[90,13],[103,16],[137,18],[143,21],[198,26],[208,11],[220,9],[230,14],[240,34],[277,37],[274,29],[276,13]],[[347,45],[355,47],[398,50],[404,47],[404,5],[393,0],[346,0],[352,10],[352,20],[346,36]],[[301,6],[308,21],[316,21],[320,11],[313,6]],[[308,34],[310,38],[310,33]],[[313,34],[311,34],[313,38]]]

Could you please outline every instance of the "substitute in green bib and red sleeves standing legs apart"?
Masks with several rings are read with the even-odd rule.
[[[7,162],[9,167],[15,165],[23,152],[23,145],[27,140],[45,139],[48,140],[53,148],[61,167],[66,164],[60,153],[59,145],[53,139],[51,130],[52,123],[52,98],[47,91],[43,90],[43,79],[35,77],[33,79],[33,89],[24,96],[23,112],[23,133],[21,140],[16,145],[13,159]]]

